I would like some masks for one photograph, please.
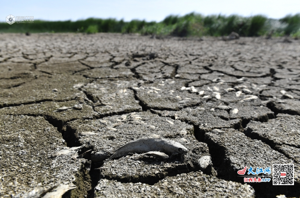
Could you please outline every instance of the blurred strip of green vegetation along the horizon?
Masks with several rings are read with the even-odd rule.
[[[0,23],[0,32],[97,32],[140,33],[159,36],[226,36],[235,31],[241,36],[290,35],[300,37],[300,14],[288,15],[282,19],[268,19],[262,15],[242,17],[238,15],[210,15],[190,13],[184,16],[167,16],[161,22],[116,19],[95,19],[72,21],[41,21],[34,23]]]

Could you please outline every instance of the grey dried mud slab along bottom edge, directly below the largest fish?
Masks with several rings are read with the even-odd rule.
[[[224,191],[224,189],[231,189]],[[121,183],[101,179],[95,187],[95,197],[252,197],[254,190],[247,184],[227,182],[201,172],[166,177],[154,185]]]

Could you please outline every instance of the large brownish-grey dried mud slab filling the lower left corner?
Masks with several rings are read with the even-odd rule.
[[[91,189],[80,177],[81,171],[87,171],[88,161],[71,160],[76,151],[65,146],[61,133],[43,117],[1,114],[0,120],[4,197],[28,191],[32,191],[31,196],[39,197],[39,188],[49,189],[60,183],[78,185],[71,194],[86,194]],[[22,182],[13,182],[16,178]]]

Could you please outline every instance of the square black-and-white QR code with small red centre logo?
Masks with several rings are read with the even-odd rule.
[[[294,185],[294,164],[273,164],[273,185]]]

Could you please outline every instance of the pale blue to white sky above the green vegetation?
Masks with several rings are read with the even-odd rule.
[[[13,0],[1,1],[0,21],[5,21],[10,14],[49,21],[76,21],[89,17],[161,21],[170,14],[182,16],[190,12],[203,15],[264,14],[279,19],[287,14],[300,13],[300,0]]]

